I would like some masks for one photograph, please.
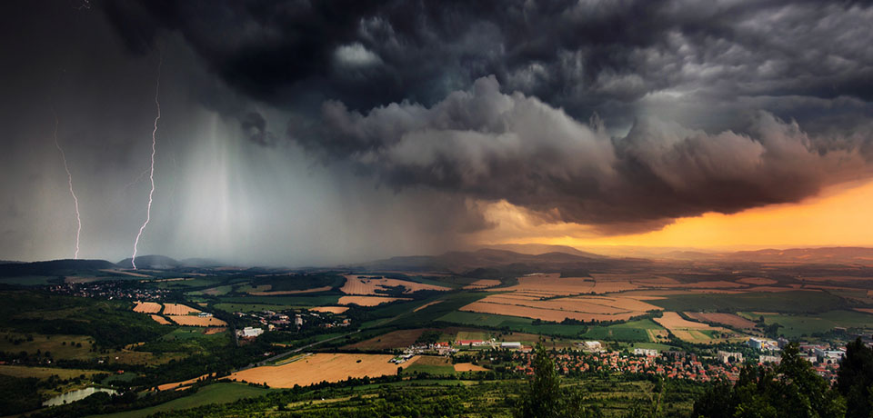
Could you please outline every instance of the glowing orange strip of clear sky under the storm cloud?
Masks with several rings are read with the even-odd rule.
[[[660,231],[598,236],[579,224],[537,224],[517,207],[491,204],[487,218],[498,224],[479,236],[481,244],[633,245],[710,249],[873,245],[873,182],[832,187],[798,204],[775,204],[738,214],[708,213],[681,218]]]

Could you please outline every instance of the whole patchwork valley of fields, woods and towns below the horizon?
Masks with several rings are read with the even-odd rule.
[[[607,416],[651,400],[657,379],[683,393],[667,407],[683,416],[707,384],[778,362],[789,342],[832,381],[841,347],[873,333],[863,263],[503,250],[296,271],[140,263],[163,267],[0,265],[0,381],[29,388],[3,413],[200,416],[246,399],[319,414],[416,385],[507,415],[542,344]],[[44,406],[87,388],[107,392]]]

